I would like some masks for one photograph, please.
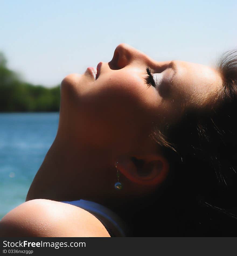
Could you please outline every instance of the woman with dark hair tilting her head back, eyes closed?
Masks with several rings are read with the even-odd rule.
[[[236,88],[237,51],[214,69],[120,44],[68,75],[57,136],[2,235],[234,235]]]

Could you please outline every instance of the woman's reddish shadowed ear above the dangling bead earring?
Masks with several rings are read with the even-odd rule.
[[[162,155],[120,157],[117,169],[130,181],[141,185],[159,185],[167,177],[169,164]]]

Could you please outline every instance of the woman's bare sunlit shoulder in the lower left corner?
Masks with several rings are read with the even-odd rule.
[[[89,212],[66,203],[34,199],[6,214],[0,237],[109,237]]]

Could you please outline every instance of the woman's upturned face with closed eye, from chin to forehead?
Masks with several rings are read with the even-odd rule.
[[[148,86],[147,83],[150,83]],[[59,132],[95,148],[147,150],[154,123],[177,122],[184,109],[211,106],[218,72],[183,61],[159,62],[120,44],[109,63],[61,83]]]

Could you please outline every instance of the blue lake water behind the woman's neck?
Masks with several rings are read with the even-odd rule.
[[[58,119],[59,113],[0,113],[0,219],[25,202]]]

